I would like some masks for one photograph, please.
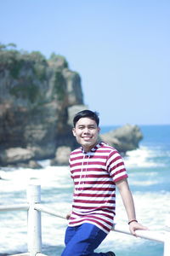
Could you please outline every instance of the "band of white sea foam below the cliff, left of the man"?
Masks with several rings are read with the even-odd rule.
[[[10,190],[26,189],[29,183],[41,184],[43,188],[48,187],[70,187],[72,183],[68,183],[70,172],[67,166],[46,166],[43,169],[17,169],[15,171],[0,172],[3,178],[0,183],[0,189],[3,192]]]

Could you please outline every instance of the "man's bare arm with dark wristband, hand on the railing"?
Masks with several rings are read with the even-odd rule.
[[[137,221],[135,221],[136,213],[135,213],[135,207],[133,202],[133,195],[131,193],[131,190],[129,189],[127,178],[117,182],[116,186],[119,189],[119,192],[122,196],[123,205],[127,212],[128,223],[130,222],[129,224],[130,232],[133,234],[133,236],[136,236],[135,230],[148,230],[142,224],[139,224]]]

